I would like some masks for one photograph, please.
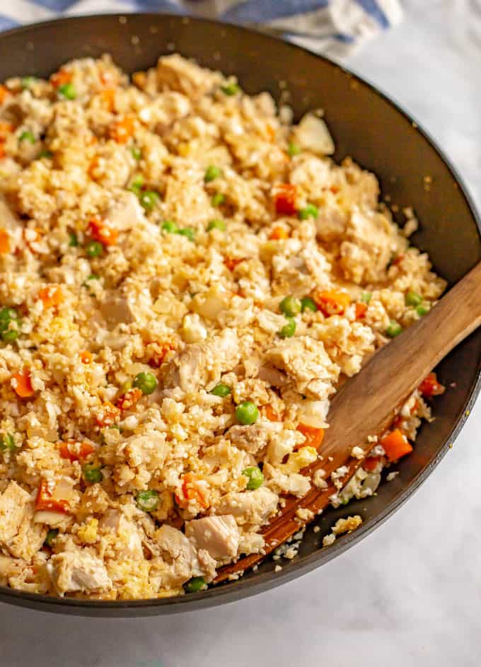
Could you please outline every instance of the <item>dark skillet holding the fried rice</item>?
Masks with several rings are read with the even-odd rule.
[[[216,21],[163,14],[64,18],[1,34],[0,81],[9,76],[47,77],[69,59],[105,52],[127,72],[152,66],[160,54],[180,52],[203,66],[236,74],[247,93],[269,91],[277,101],[292,106],[296,120],[308,110],[323,108],[335,140],[335,160],[352,156],[376,173],[390,205],[398,211],[414,207],[420,228],[412,243],[429,253],[434,269],[450,286],[481,259],[481,222],[473,202],[429,135],[366,81],[275,37]],[[429,187],[425,177],[431,178]],[[481,388],[481,330],[449,354],[436,371],[448,390],[436,399],[436,420],[423,424],[412,456],[396,467],[400,474],[381,485],[368,501],[325,511],[306,530],[299,555],[283,564],[282,572],[274,572],[274,563],[268,559],[256,572],[204,593],[140,601],[49,598],[0,586],[0,601],[84,616],[160,615],[231,602],[306,574],[386,521],[439,463]],[[456,386],[449,387],[452,383]],[[362,526],[320,549],[332,523],[348,514],[360,514]],[[313,532],[316,525],[319,533]]]

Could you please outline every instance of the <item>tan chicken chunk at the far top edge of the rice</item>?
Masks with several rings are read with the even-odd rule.
[[[198,99],[219,81],[219,75],[202,69],[178,54],[158,59],[157,84],[163,91],[185,93],[192,100]]]

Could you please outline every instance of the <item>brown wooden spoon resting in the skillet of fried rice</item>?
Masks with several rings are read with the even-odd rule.
[[[342,477],[342,485],[346,484],[362,463],[351,457],[353,446],[363,446],[367,455],[376,444],[368,443],[368,437],[381,434],[429,371],[480,325],[481,262],[427,315],[382,347],[360,373],[342,385],[330,405],[330,428],[320,450],[322,458],[306,474],[313,475],[323,468],[327,480],[331,472],[346,465],[348,471]],[[265,554],[245,556],[226,565],[219,570],[215,582],[260,562],[322,511],[335,490],[330,482],[327,489],[313,487],[301,499],[286,499],[282,511],[262,530]]]

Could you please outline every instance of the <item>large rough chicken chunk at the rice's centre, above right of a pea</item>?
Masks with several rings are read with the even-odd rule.
[[[225,329],[205,343],[187,346],[175,357],[166,372],[166,388],[180,386],[186,392],[194,392],[217,383],[221,374],[231,371],[239,359],[236,330]]]

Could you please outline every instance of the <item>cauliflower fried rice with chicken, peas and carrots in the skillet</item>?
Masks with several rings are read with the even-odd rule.
[[[318,113],[179,55],[0,86],[0,584],[202,590],[327,483],[303,469],[330,397],[445,287],[333,151]],[[334,504],[411,451],[423,385]]]

